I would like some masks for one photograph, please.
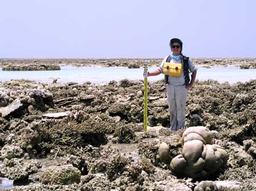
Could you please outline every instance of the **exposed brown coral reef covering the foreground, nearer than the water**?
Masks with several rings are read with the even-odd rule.
[[[14,180],[5,190],[255,190],[256,80],[196,82],[187,105],[186,128],[207,128],[228,157],[207,178],[179,177],[160,159],[163,142],[172,160],[184,141],[168,129],[162,80],[148,84],[147,133],[141,80],[0,82],[0,177]]]

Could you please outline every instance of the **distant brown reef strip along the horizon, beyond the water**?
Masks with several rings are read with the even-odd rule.
[[[160,65],[163,58],[0,58],[0,66],[5,65],[72,65],[102,67],[142,67],[148,60],[149,65]],[[241,69],[255,69],[256,58],[191,58],[197,66],[237,66]]]

